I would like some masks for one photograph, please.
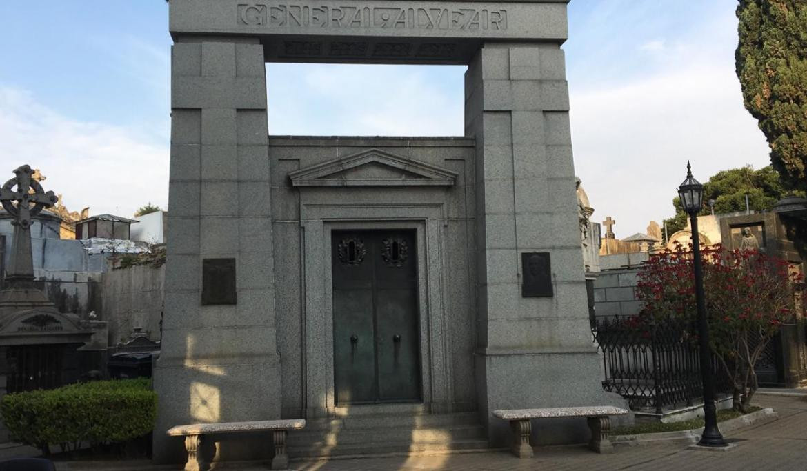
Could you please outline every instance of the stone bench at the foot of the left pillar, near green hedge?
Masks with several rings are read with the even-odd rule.
[[[201,449],[205,436],[224,435],[229,433],[254,433],[272,431],[274,436],[274,457],[272,469],[286,469],[289,456],[286,455],[286,435],[289,430],[300,430],[305,427],[304,419],[257,420],[254,422],[196,423],[171,427],[165,433],[169,436],[184,436],[188,461],[185,471],[207,471],[210,463],[202,456]]]

